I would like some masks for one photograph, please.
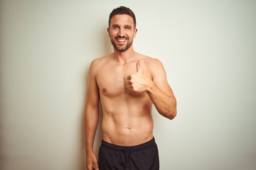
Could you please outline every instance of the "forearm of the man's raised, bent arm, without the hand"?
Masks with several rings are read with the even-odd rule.
[[[152,81],[146,88],[146,92],[154,103],[156,110],[165,118],[174,119],[176,116],[176,98],[161,91]]]

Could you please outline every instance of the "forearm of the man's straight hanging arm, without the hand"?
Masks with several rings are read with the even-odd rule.
[[[93,143],[99,120],[98,109],[85,108],[85,147],[86,152],[93,151]]]

